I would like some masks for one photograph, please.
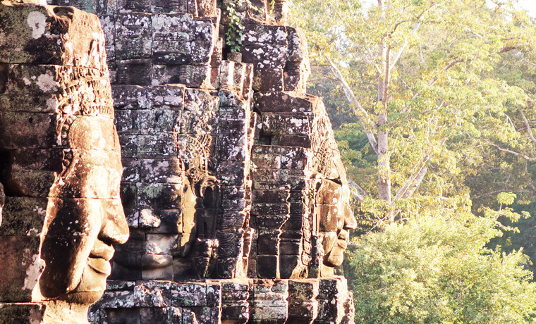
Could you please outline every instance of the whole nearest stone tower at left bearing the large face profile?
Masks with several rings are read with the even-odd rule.
[[[95,15],[0,3],[0,323],[87,323],[128,239]]]

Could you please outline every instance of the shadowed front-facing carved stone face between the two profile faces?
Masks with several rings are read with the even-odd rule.
[[[176,174],[184,172],[174,171]],[[219,190],[214,177],[207,176],[192,184],[192,180],[183,176],[182,181],[176,185],[173,199],[161,201],[160,204],[164,204],[162,208],[145,208],[140,211],[140,223],[143,225],[131,227],[128,242],[116,247],[118,253],[114,262],[127,269],[127,273],[118,270],[118,277],[129,280],[173,280],[191,278],[195,276],[195,271],[207,272],[205,268],[197,269],[194,264],[195,258],[204,258],[198,255],[200,252],[207,252],[195,244],[202,244],[200,240],[208,238],[205,237],[205,232],[213,231]],[[164,209],[165,204],[169,208]],[[198,251],[200,249],[202,251]],[[195,253],[192,253],[194,250]],[[210,255],[206,257],[209,258]],[[208,267],[208,264],[205,266]]]

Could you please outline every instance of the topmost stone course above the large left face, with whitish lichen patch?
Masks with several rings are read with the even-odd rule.
[[[3,4],[0,35],[0,63],[101,70],[106,62],[99,19],[73,7]]]

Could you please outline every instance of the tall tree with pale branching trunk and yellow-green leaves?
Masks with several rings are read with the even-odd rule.
[[[348,174],[360,188],[354,197],[380,225],[433,208],[437,197],[477,188],[475,196],[489,197],[532,184],[516,177],[516,188],[492,187],[494,176],[483,187],[465,182],[485,179],[476,171],[490,166],[506,163],[506,175],[535,161],[533,87],[506,75],[506,66],[523,57],[534,71],[536,29],[511,1],[378,0],[368,12],[359,1],[295,7],[312,58],[329,66],[357,119],[347,134],[367,140],[366,147],[343,142],[343,154],[365,165],[353,153],[374,156],[365,168],[374,169],[374,182]]]

